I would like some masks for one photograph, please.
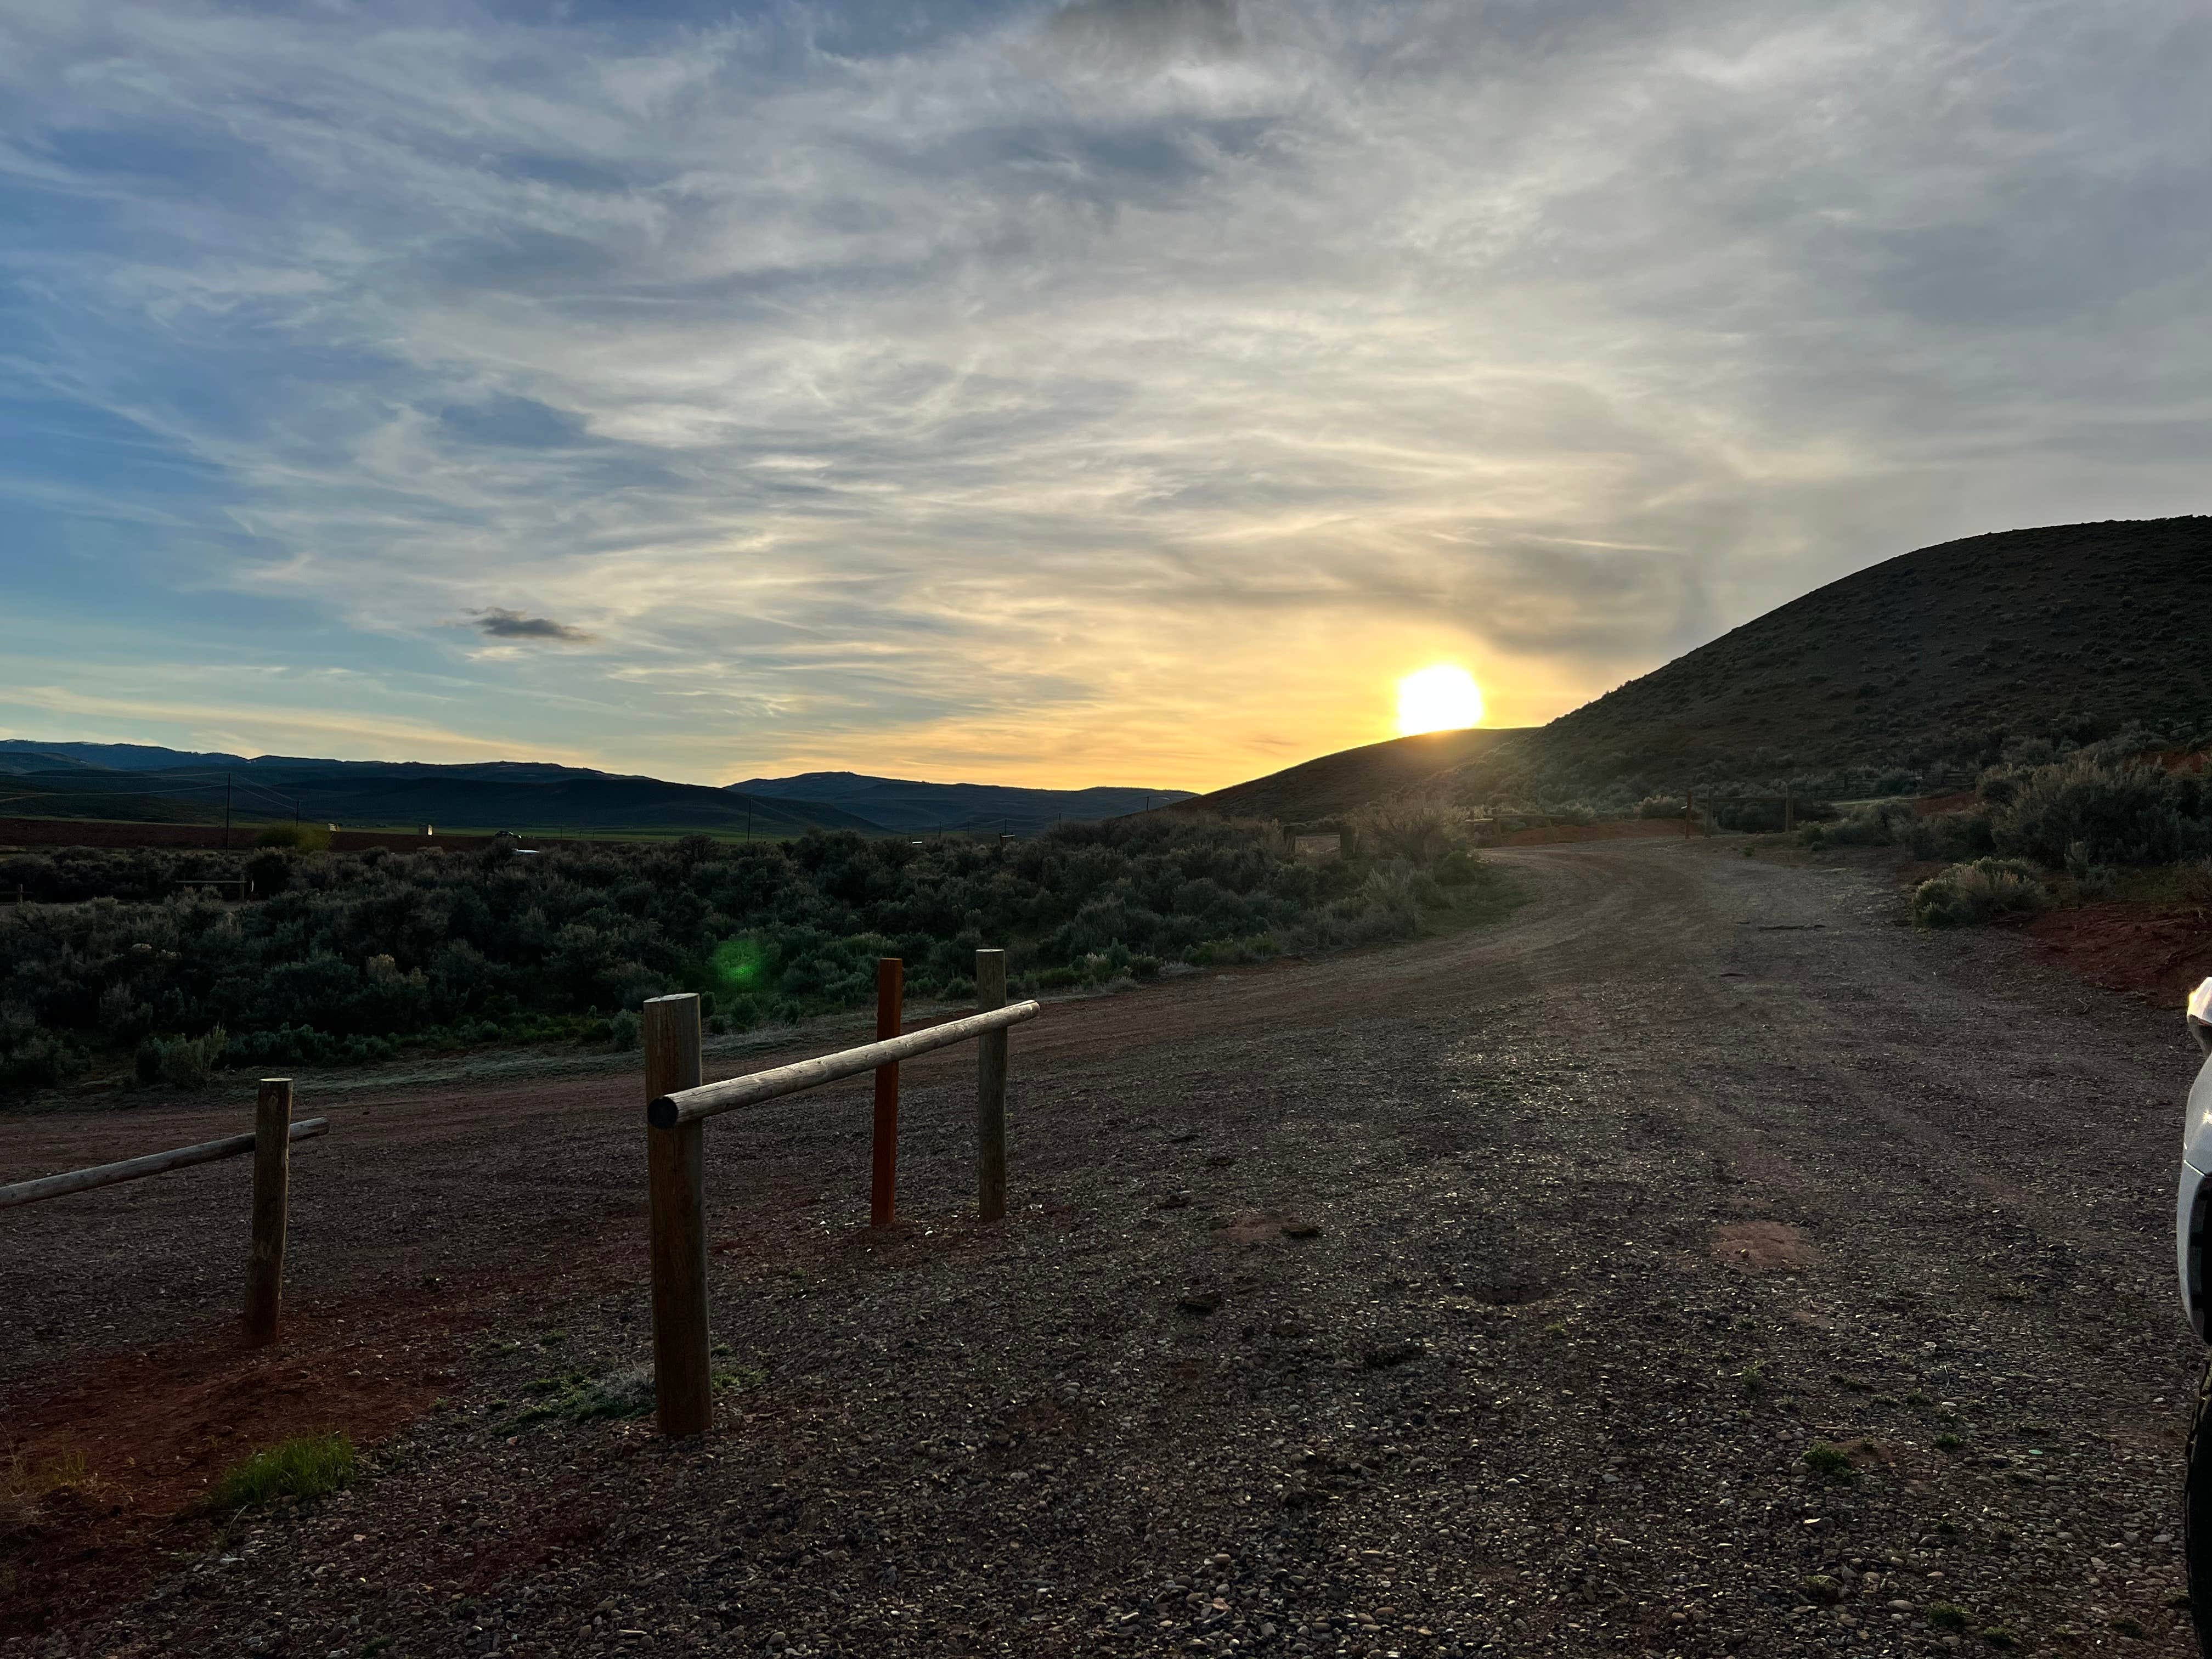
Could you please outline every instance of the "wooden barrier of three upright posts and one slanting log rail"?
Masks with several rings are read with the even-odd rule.
[[[653,1391],[661,1433],[703,1433],[714,1416],[706,1312],[706,1119],[876,1073],[869,1219],[891,1221],[898,1170],[898,1062],[975,1040],[975,1212],[1006,1217],[1006,1029],[1035,1020],[1035,1002],[1006,1004],[1006,953],[975,951],[975,1006],[962,1020],[898,1035],[905,969],[878,964],[876,1033],[790,1066],[701,1084],[699,998],[653,998],[644,1009],[646,1177],[653,1230]]]

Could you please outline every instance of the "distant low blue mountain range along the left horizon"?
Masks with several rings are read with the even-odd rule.
[[[0,741],[0,818],[221,823],[226,799],[237,823],[296,814],[345,827],[790,836],[805,830],[1035,834],[1062,818],[1110,818],[1183,801],[1188,792],[1015,790],[856,772],[748,779],[714,790],[542,761],[434,765]]]

